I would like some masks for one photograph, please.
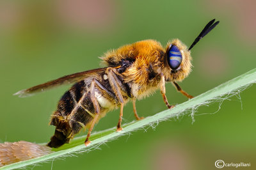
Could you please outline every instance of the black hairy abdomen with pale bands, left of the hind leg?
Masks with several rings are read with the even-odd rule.
[[[48,146],[58,148],[68,143],[82,127],[93,119],[95,110],[84,81],[77,82],[61,97],[58,109],[52,114],[51,125],[56,126]]]

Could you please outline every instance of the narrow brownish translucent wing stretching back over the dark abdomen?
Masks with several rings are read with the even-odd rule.
[[[106,69],[107,68],[97,68],[97,69],[88,70],[85,72],[79,72],[79,73],[73,73],[70,75],[65,75],[63,77],[60,77],[59,79],[54,80],[54,81],[45,82],[44,84],[39,84],[32,88],[22,89],[13,95],[19,95],[19,97],[28,97],[28,96],[34,95],[34,93],[45,91],[45,90],[48,90],[51,88],[56,88],[56,87],[64,85],[64,84],[71,84],[71,83],[81,81],[81,80],[85,79],[86,77],[89,77],[92,73],[103,72]]]

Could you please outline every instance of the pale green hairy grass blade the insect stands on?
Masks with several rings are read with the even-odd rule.
[[[255,82],[256,82],[256,68],[251,70],[250,72],[240,75],[239,77],[236,77],[235,79],[232,79],[231,81],[225,82],[220,86],[213,88],[201,95],[198,95],[197,97],[191,100],[188,100],[187,102],[176,105],[171,110],[159,112],[154,116],[144,118],[143,120],[133,121],[131,123],[128,123],[123,126],[124,130],[122,130],[122,132],[116,132],[115,131],[116,128],[110,128],[108,130],[97,132],[93,134],[92,137],[90,138],[92,143],[87,148],[85,148],[84,146],[84,139],[86,136],[76,137],[70,142],[70,144],[65,144],[64,146],[61,146],[58,149],[54,149],[53,150],[54,152],[49,153],[48,155],[44,155],[38,158],[33,158],[31,160],[17,162],[15,164],[10,164],[8,166],[1,167],[0,169],[14,169],[14,168],[25,167],[31,164],[45,162],[52,158],[60,158],[60,157],[68,156],[69,153],[77,153],[81,151],[92,150],[93,148],[97,148],[97,146],[99,146],[100,144],[106,143],[106,141],[116,139],[116,137],[127,134],[128,132],[132,132],[138,128],[152,125],[152,123],[156,123],[156,122],[158,123],[159,121],[163,121],[168,118],[177,117],[180,114],[184,114],[184,111],[187,111],[188,109],[196,108],[205,103],[208,104],[210,102],[214,102],[220,99],[221,97],[224,97],[225,99],[232,95],[236,95],[237,91],[243,91],[243,89],[245,89],[247,86]],[[192,112],[192,116],[193,116],[193,112]]]

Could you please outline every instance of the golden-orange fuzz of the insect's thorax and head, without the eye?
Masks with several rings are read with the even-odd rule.
[[[182,53],[180,69],[175,72],[167,63],[167,52],[171,44],[176,45]],[[192,66],[190,51],[178,39],[168,42],[165,50],[156,40],[143,40],[109,50],[101,59],[108,66],[118,66],[124,60],[132,61],[132,65],[123,73],[125,82],[140,84],[152,82],[152,76],[159,73],[164,74],[166,81],[182,81],[189,75]]]

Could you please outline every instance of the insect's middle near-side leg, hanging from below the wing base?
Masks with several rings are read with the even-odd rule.
[[[123,128],[121,127],[121,122],[122,122],[123,109],[124,109],[124,98],[120,89],[120,85],[122,85],[122,82],[116,76],[115,70],[113,70],[113,68],[107,68],[106,72],[108,74],[109,84],[111,85],[111,88],[113,89],[116,97],[120,102],[120,116],[119,116],[119,120],[116,128],[116,131],[119,132],[123,130]]]

